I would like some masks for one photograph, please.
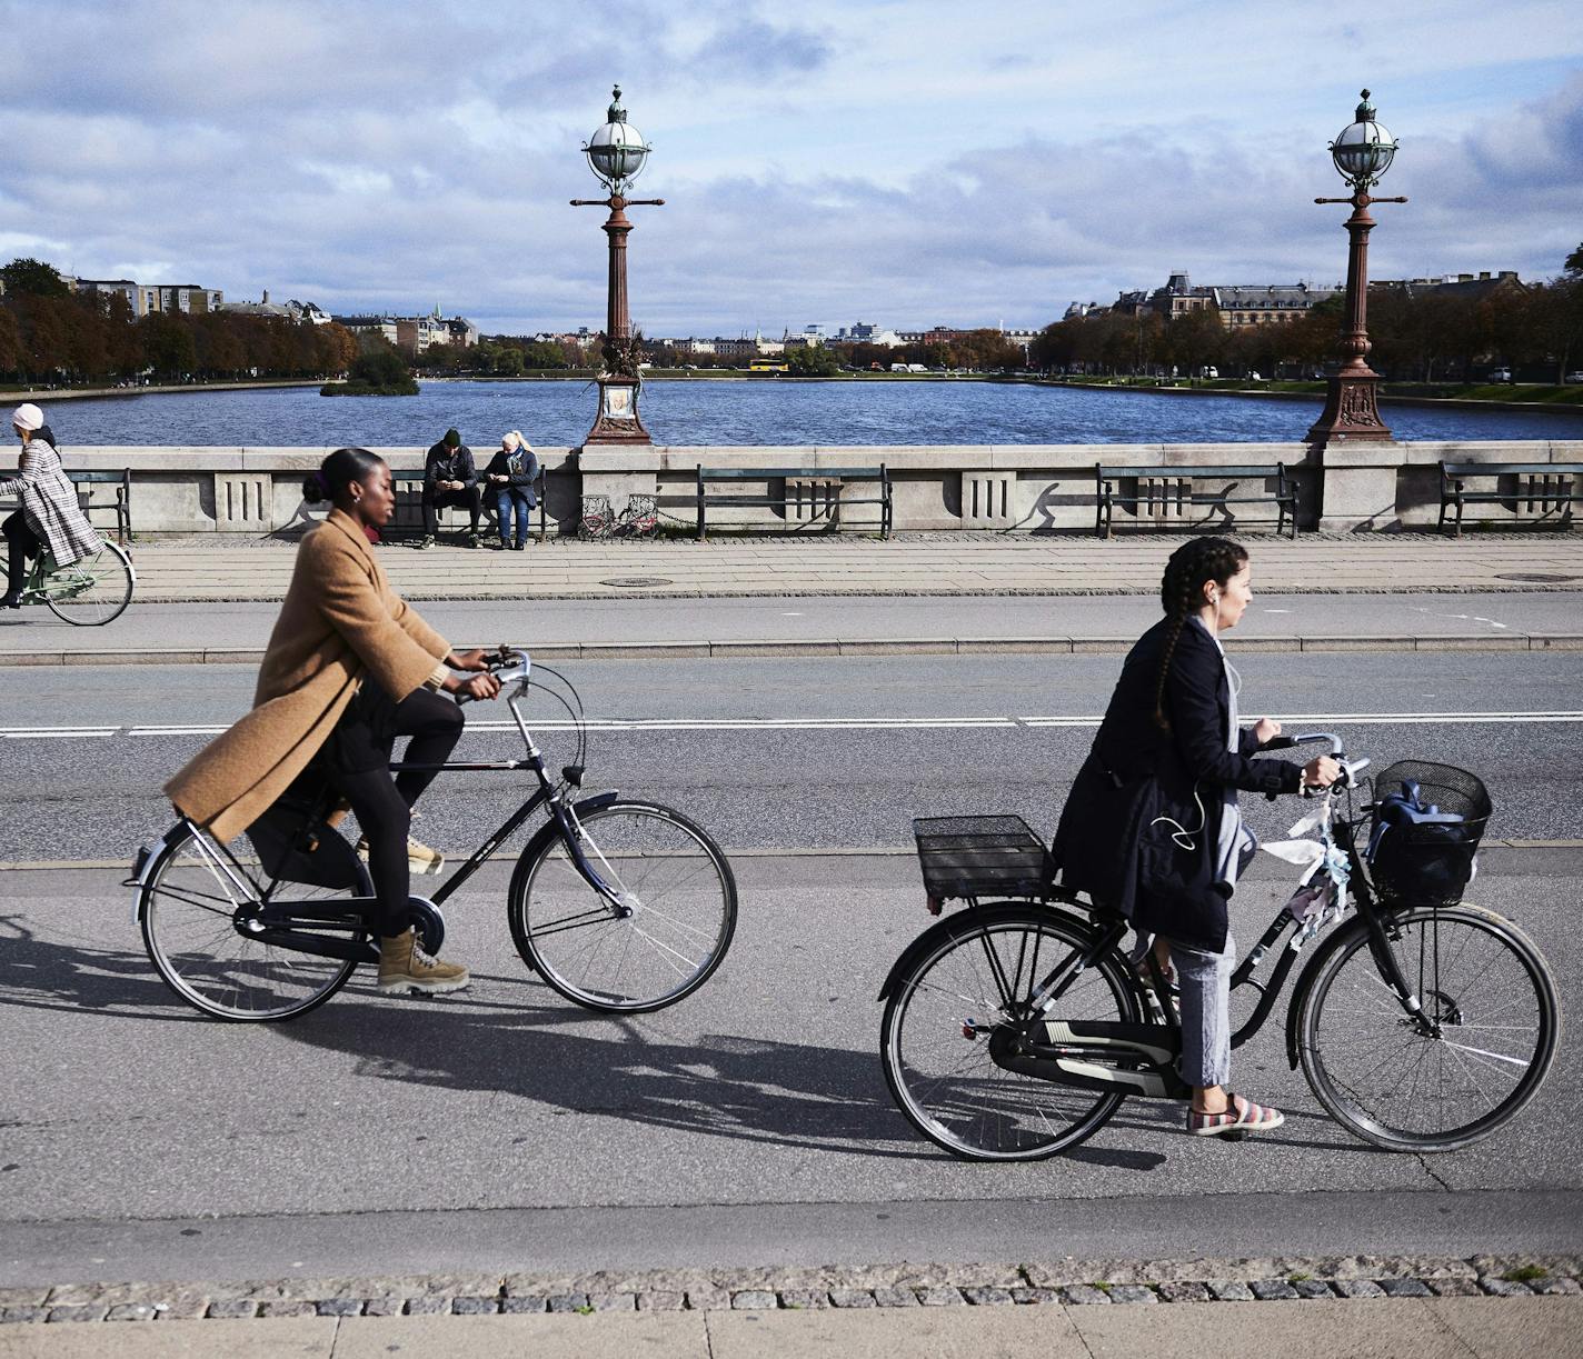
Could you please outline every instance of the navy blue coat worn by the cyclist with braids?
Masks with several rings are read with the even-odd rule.
[[[1133,927],[1187,948],[1225,948],[1228,883],[1216,881],[1222,793],[1296,793],[1301,769],[1284,759],[1252,759],[1243,731],[1227,748],[1230,693],[1220,652],[1189,619],[1171,653],[1164,710],[1154,720],[1167,620],[1127,653],[1121,679],[1056,829],[1054,859],[1065,886],[1114,907]],[[1194,794],[1197,793],[1197,801]],[[1201,808],[1201,810],[1200,810]],[[1192,848],[1173,840],[1184,827]]]

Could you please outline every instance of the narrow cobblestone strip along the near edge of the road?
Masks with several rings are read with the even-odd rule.
[[[296,1278],[228,1285],[79,1283],[0,1289],[0,1326],[272,1316],[476,1316],[600,1312],[815,1312],[874,1307],[1140,1307],[1376,1297],[1578,1297],[1583,1258],[1472,1256],[584,1275]]]

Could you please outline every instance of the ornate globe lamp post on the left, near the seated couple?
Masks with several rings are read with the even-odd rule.
[[[627,234],[632,223],[625,209],[633,204],[659,207],[663,198],[627,198],[627,190],[643,169],[652,147],[644,142],[621,106],[621,85],[598,128],[583,147],[589,169],[609,190],[609,198],[573,198],[573,207],[608,207],[605,234],[609,237],[609,299],[605,313],[605,345],[600,351],[598,415],[589,430],[589,443],[651,443],[649,432],[638,418],[638,346],[632,339],[627,315]]]

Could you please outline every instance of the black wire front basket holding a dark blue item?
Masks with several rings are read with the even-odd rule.
[[[1418,785],[1418,801],[1460,821],[1382,824],[1382,799],[1403,783]],[[1403,759],[1374,778],[1369,820],[1369,876],[1382,902],[1453,907],[1474,876],[1474,857],[1490,820],[1490,793],[1466,769]]]

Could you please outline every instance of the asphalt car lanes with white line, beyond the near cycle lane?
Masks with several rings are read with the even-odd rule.
[[[905,845],[918,815],[1016,812],[1053,831],[1119,658],[579,661],[562,669],[595,723],[589,788],[670,802],[727,848],[818,848]],[[1493,837],[1583,835],[1575,782],[1583,653],[1247,655],[1239,669],[1247,718],[1270,714],[1338,729],[1350,753],[1377,769],[1407,756],[1472,769],[1498,808]],[[9,732],[0,739],[0,862],[130,859],[169,824],[160,785],[206,732],[247,709],[253,679],[239,666],[0,669],[0,732]],[[565,721],[540,695],[527,712],[533,721]],[[469,721],[481,729],[457,758],[521,751],[503,704],[472,707]],[[552,763],[571,758],[564,726],[543,728],[541,745]],[[527,786],[527,775],[443,775],[421,804],[418,835],[467,853]],[[1247,799],[1247,815],[1262,837],[1293,820],[1290,805],[1262,799]]]

